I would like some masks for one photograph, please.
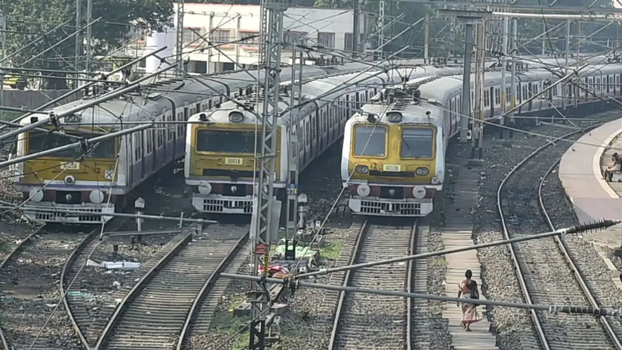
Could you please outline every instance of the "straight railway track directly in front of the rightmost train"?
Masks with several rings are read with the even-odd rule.
[[[350,263],[363,263],[407,255],[419,241],[417,224],[387,226],[366,221],[361,225]],[[419,242],[420,243],[420,242]],[[349,270],[344,285],[360,288],[404,291],[414,288],[411,278],[419,275],[407,263]],[[415,275],[415,276],[413,276]],[[425,281],[427,283],[427,280]],[[370,311],[370,306],[376,308]],[[341,292],[333,321],[329,349],[410,348],[412,305],[402,298]],[[406,309],[406,310],[405,310]]]

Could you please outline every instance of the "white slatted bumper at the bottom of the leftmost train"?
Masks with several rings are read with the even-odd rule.
[[[55,211],[59,210],[59,211]],[[114,213],[114,204],[56,204],[51,202],[39,202],[36,205],[23,206],[24,216],[34,222],[61,222],[63,224],[101,224],[112,219],[111,216],[93,215],[101,213]],[[70,210],[72,213],[63,212]],[[79,213],[75,213],[79,212]]]

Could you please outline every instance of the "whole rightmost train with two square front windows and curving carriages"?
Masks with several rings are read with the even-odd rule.
[[[609,100],[622,97],[622,65],[594,60],[577,73],[574,83],[557,85],[516,113],[590,115],[615,108]],[[507,106],[513,100],[518,105],[564,75],[564,70],[519,71],[516,95],[511,96],[509,73],[502,87],[501,72],[486,72],[483,118],[498,121],[503,116],[502,98]],[[471,111],[474,80],[471,77]],[[462,75],[419,78],[383,90],[348,120],[341,181],[349,190],[353,214],[415,217],[434,210],[435,194],[442,191],[445,181],[448,141],[460,131],[461,98]]]

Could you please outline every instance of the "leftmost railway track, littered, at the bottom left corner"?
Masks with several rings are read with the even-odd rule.
[[[3,288],[4,294],[14,295],[18,302],[24,300],[29,304],[28,313],[4,314],[0,328],[3,350],[30,349],[31,345],[33,350],[67,349],[67,344],[59,341],[58,334],[55,334],[58,329],[53,329],[63,328],[64,320],[60,321],[62,326],[59,326],[55,324],[56,318],[51,319],[49,329],[38,335],[59,298],[54,290],[58,271],[83,237],[78,238],[75,233],[55,232],[49,226],[40,227],[16,245],[0,263],[1,281],[8,286]],[[27,300],[33,294],[40,297]],[[30,312],[33,308],[38,312]],[[62,312],[58,316],[62,318]]]

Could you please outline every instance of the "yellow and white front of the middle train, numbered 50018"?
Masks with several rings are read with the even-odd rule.
[[[256,115],[234,102],[223,102],[213,110],[190,116],[189,121],[194,123],[187,126],[184,171],[192,191],[192,206],[210,214],[253,214],[253,186],[259,176],[255,149],[261,150],[261,138],[255,132]],[[285,177],[281,171],[281,123],[279,120],[273,178],[280,200],[285,191],[281,180]]]

